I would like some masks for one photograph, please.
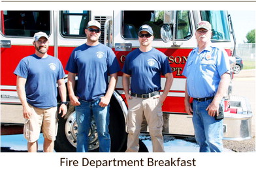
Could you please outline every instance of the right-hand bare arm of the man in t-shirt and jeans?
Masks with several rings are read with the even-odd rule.
[[[108,91],[106,91],[105,96],[101,97],[101,102],[99,102],[99,106],[106,107],[108,106],[111,96],[116,88],[116,82],[118,81],[118,73],[110,74],[110,81],[108,83]]]

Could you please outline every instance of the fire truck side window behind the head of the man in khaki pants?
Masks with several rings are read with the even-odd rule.
[[[188,10],[178,10],[176,17],[176,39],[189,39],[192,36],[190,12]],[[140,26],[148,24],[153,29],[155,39],[160,40],[160,31],[164,24],[163,20],[163,10],[125,10],[123,11],[123,38],[138,38]]]

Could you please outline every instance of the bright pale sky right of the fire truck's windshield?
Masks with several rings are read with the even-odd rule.
[[[255,12],[255,10],[229,10],[237,43],[246,42],[246,34],[255,29]]]

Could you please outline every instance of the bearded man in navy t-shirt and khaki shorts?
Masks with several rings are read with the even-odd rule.
[[[47,54],[49,41],[46,33],[35,33],[35,54],[20,61],[17,75],[17,92],[23,106],[24,137],[27,151],[37,152],[40,130],[44,135],[44,152],[53,152],[57,132],[57,88],[61,96],[62,117],[67,113],[67,90],[64,70],[56,57]]]

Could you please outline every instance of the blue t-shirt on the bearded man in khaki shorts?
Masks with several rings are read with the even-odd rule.
[[[25,93],[27,102],[42,109],[57,106],[57,80],[65,76],[59,59],[33,54],[20,61],[14,74],[27,79]]]

